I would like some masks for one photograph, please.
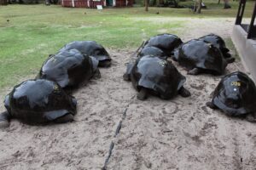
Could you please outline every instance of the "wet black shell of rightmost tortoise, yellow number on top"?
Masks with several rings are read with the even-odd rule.
[[[212,104],[229,116],[241,116],[256,111],[256,87],[245,73],[236,71],[218,83]]]

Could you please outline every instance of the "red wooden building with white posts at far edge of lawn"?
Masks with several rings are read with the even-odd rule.
[[[96,8],[102,7],[132,7],[134,0],[61,0],[62,7]]]

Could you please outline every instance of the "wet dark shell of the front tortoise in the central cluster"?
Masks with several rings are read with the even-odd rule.
[[[138,58],[131,69],[131,82],[137,91],[148,88],[162,99],[171,99],[183,87],[183,77],[171,61],[159,56]]]

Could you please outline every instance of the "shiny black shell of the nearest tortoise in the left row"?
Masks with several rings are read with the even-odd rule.
[[[75,115],[76,99],[49,80],[27,80],[15,86],[4,105],[11,117],[29,123],[51,122],[66,114]]]

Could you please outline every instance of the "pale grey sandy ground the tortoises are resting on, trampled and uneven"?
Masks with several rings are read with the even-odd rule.
[[[213,23],[207,27],[195,26],[197,20],[182,31],[183,40],[211,32],[230,37],[234,20],[207,20]],[[186,76],[189,98],[140,101],[131,83],[122,80],[133,51],[109,52],[113,66],[73,94],[79,101],[75,122],[29,126],[13,120],[0,129],[1,170],[101,169],[106,160],[106,169],[120,170],[255,169],[256,124],[205,105],[221,77]],[[240,61],[227,67],[227,73],[238,70],[243,71]]]

